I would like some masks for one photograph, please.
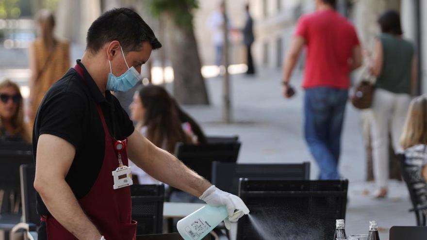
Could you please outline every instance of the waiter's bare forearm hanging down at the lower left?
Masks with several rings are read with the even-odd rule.
[[[50,214],[79,240],[98,240],[101,234],[80,207],[66,181],[36,182]]]

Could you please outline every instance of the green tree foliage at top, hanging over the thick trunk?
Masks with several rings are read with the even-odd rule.
[[[169,14],[175,23],[184,28],[193,28],[193,10],[197,0],[146,0],[153,16]]]

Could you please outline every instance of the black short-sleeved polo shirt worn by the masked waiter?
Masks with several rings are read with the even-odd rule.
[[[83,69],[84,79],[71,68],[53,84],[40,104],[34,122],[33,154],[35,159],[37,141],[42,134],[55,135],[73,144],[76,155],[66,182],[80,199],[92,188],[104,159],[105,134],[97,104],[116,140],[127,138],[134,128],[117,98],[110,91],[106,91],[104,97],[80,60],[77,64]],[[41,215],[49,214],[38,194],[37,211]]]

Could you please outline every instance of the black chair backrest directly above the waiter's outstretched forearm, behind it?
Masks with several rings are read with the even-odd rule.
[[[178,143],[175,155],[200,176],[211,181],[212,162],[236,162],[239,150],[240,142],[200,145]]]

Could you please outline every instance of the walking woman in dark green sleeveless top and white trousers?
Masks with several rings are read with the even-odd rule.
[[[402,38],[400,16],[386,11],[378,18],[381,34],[378,36],[371,74],[377,77],[372,103],[371,136],[373,147],[376,198],[387,196],[389,177],[389,129],[395,152],[402,152],[399,137],[415,90],[417,79],[414,46]]]

